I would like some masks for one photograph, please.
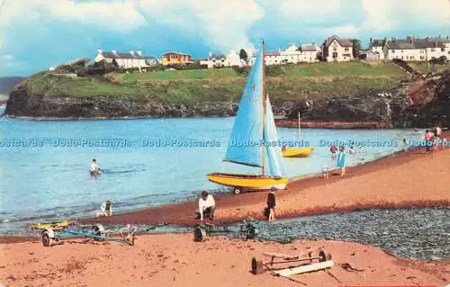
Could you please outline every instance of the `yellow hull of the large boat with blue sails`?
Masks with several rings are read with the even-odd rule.
[[[243,190],[269,190],[272,187],[285,189],[287,177],[271,177],[266,175],[234,175],[213,173],[206,175],[208,180],[214,184],[221,184]]]

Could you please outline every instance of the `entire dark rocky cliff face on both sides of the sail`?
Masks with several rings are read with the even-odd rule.
[[[313,102],[274,102],[275,114],[302,121],[378,123],[380,128],[450,126],[450,72],[417,78],[391,90],[368,91]],[[26,86],[11,93],[5,115],[46,118],[213,117],[232,116],[238,103],[142,101],[132,96],[55,97],[33,94]],[[295,119],[295,120],[294,120]],[[319,127],[319,126],[318,126]]]

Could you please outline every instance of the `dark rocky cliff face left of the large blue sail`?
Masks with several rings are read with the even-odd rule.
[[[5,115],[46,118],[121,118],[121,117],[223,117],[234,115],[237,103],[190,102],[162,103],[139,101],[130,96],[88,98],[47,97],[31,94],[24,87],[15,89]]]

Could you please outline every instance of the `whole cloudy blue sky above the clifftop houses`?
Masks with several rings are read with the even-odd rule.
[[[29,76],[98,49],[161,57],[450,36],[450,0],[0,0],[0,76]]]

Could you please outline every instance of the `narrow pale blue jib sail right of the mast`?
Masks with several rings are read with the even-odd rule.
[[[270,166],[269,175],[272,176],[285,176],[286,168],[284,166],[284,159],[282,150],[278,144],[278,137],[276,135],[274,112],[272,112],[272,105],[270,104],[269,97],[266,99],[266,119],[264,128],[264,137],[266,141],[266,158],[268,166]]]

